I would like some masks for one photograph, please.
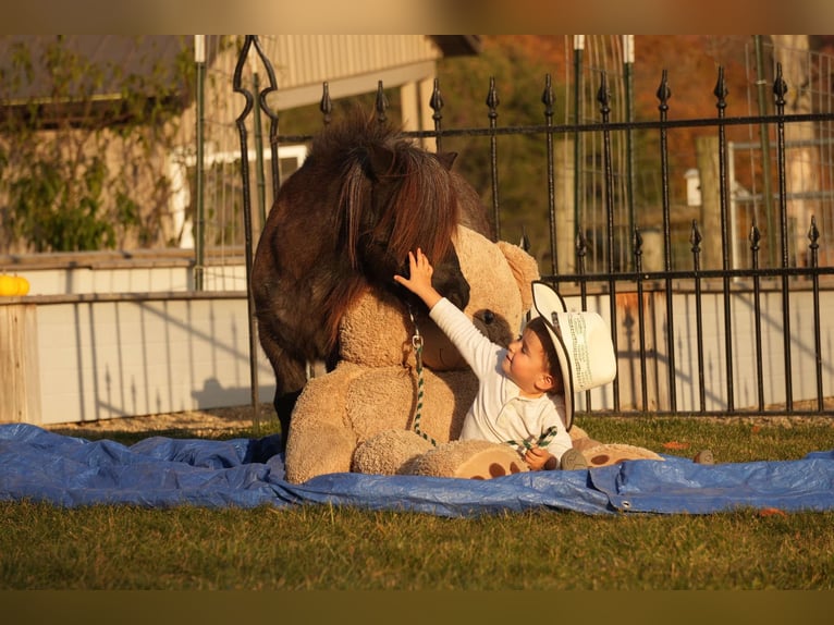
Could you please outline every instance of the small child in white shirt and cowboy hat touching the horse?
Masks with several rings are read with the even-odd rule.
[[[535,282],[532,318],[508,347],[492,343],[431,284],[433,269],[418,248],[409,277],[394,280],[417,295],[478,378],[461,440],[515,446],[532,470],[587,467],[573,449],[573,393],[616,375],[611,335],[594,312],[567,312],[559,294]],[[593,353],[593,369],[590,356]]]

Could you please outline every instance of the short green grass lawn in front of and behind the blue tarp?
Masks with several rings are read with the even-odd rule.
[[[787,427],[586,418],[579,425],[600,440],[665,453],[708,446],[719,462],[834,449],[834,424],[820,420]],[[130,443],[143,436],[108,438]],[[834,513],[537,511],[450,519],[327,505],[0,503],[0,589],[765,588],[834,588]]]

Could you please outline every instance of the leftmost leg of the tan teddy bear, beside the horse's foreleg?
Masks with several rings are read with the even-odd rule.
[[[351,470],[356,434],[346,425],[347,389],[358,369],[342,366],[304,388],[293,412],[286,444],[286,479],[301,483]]]

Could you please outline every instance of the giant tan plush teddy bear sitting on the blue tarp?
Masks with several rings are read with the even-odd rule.
[[[454,245],[470,287],[464,312],[507,345],[532,304],[536,259],[463,225]],[[346,311],[339,332],[336,367],[310,378],[295,405],[287,481],[345,471],[490,479],[528,470],[508,445],[457,440],[478,382],[427,315],[370,289]],[[641,448],[600,443],[578,426],[571,437],[591,466],[662,459]]]

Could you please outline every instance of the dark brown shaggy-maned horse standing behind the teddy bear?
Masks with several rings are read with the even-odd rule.
[[[422,248],[438,290],[466,306],[469,285],[452,237],[458,224],[487,236],[490,226],[478,194],[451,171],[454,157],[353,113],[312,140],[281,186],[258,242],[252,289],[284,444],[307,363],[335,365],[339,322],[356,297],[370,284],[413,297],[393,281],[408,250]]]

